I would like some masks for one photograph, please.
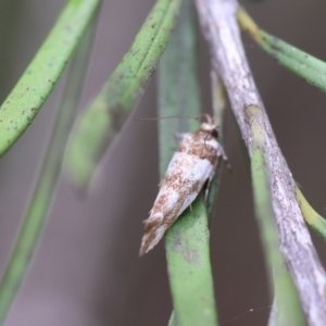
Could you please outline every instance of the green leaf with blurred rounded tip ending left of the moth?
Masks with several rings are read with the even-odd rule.
[[[130,49],[80,116],[66,151],[65,170],[88,186],[103,152],[137,104],[166,46],[181,0],[159,0]]]

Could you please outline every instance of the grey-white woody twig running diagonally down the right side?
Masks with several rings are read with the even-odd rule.
[[[254,135],[248,110],[256,110],[260,150],[268,171],[271,203],[278,229],[279,249],[291,273],[309,325],[325,325],[326,275],[296,200],[296,183],[276,142],[264,104],[246,59],[236,22],[236,0],[197,0],[214,68],[222,76],[233,111],[252,155]],[[253,118],[253,120],[252,120]]]

